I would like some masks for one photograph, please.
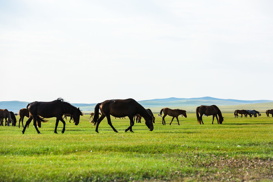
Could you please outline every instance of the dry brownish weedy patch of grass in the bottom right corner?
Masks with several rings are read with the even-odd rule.
[[[202,169],[194,170],[184,180],[200,181],[261,181],[273,180],[273,159],[237,158],[214,154],[186,154],[187,165]]]

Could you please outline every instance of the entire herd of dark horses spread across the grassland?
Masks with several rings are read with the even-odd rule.
[[[101,111],[101,112],[99,112]],[[179,125],[178,116],[183,115],[187,118],[187,111],[181,110],[181,109],[169,109],[169,108],[163,108],[160,111],[160,115],[163,112],[162,117],[162,124],[166,125],[165,117],[167,115],[171,116],[171,122],[173,119],[176,118],[177,123]],[[236,110],[234,112],[235,117],[238,117],[238,114],[241,114],[241,117],[243,115],[247,117],[249,115],[250,117],[254,116],[257,117],[261,114],[258,111],[255,110]],[[273,109],[267,110],[266,115],[269,117],[269,114],[272,114],[273,117]],[[59,121],[63,123],[63,129],[62,133],[65,132],[65,121],[63,119],[63,116],[70,116],[70,120],[72,119],[74,121],[75,125],[78,125],[79,118],[82,116],[83,113],[79,110],[79,108],[76,108],[72,106],[71,104],[65,102],[62,98],[58,98],[55,101],[52,102],[32,102],[27,105],[27,108],[21,109],[19,111],[19,128],[20,128],[20,122],[22,122],[23,130],[22,133],[25,133],[26,127],[29,126],[30,122],[33,120],[33,126],[35,127],[38,134],[40,134],[40,131],[37,128],[41,127],[41,122],[47,122],[44,118],[52,118],[56,117],[56,124],[55,124],[55,130],[54,132],[57,133],[57,127],[59,124]],[[100,116],[101,115],[101,116]],[[112,125],[111,117],[118,117],[123,118],[127,116],[130,120],[130,125],[128,128],[125,129],[126,131],[132,131],[132,126],[134,125],[134,121],[136,119],[136,122],[141,122],[141,118],[143,117],[145,119],[145,124],[149,128],[150,131],[154,129],[153,123],[155,123],[155,117],[150,109],[145,109],[143,106],[141,106],[138,102],[136,102],[133,99],[126,99],[126,100],[107,100],[102,103],[98,103],[95,106],[95,112],[90,114],[90,118],[92,118],[91,123],[93,123],[94,126],[96,126],[96,132],[99,132],[98,128],[101,123],[101,121],[106,117],[108,124],[112,127],[112,129],[115,132],[118,132],[115,127]],[[203,115],[210,116],[212,115],[212,124],[214,121],[214,117],[216,117],[217,123],[222,124],[223,122],[223,116],[220,111],[220,109],[215,106],[199,106],[196,108],[196,116],[197,121],[199,124],[204,124],[203,122]],[[28,120],[25,123],[25,126],[23,124],[24,117],[28,117]],[[90,120],[89,118],[89,120]],[[5,125],[10,125],[12,123],[12,126],[16,125],[16,117],[13,112],[9,112],[7,109],[0,109],[0,125],[4,125],[4,119],[6,120]],[[8,121],[7,121],[8,119]],[[69,121],[70,122],[70,121]]]

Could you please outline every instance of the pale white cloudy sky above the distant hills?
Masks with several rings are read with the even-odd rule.
[[[0,0],[0,101],[273,100],[273,1]]]

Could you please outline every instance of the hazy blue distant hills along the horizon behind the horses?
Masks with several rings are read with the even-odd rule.
[[[217,99],[212,97],[201,97],[201,98],[165,98],[165,99],[152,99],[138,101],[145,108],[154,107],[184,107],[184,106],[200,106],[200,105],[218,105],[218,106],[229,106],[229,105],[244,105],[244,104],[257,104],[257,103],[269,103],[273,102],[270,100],[255,100],[255,101],[244,101],[235,99]],[[25,108],[29,102],[21,101],[3,101],[0,102],[0,109],[8,109],[13,112],[19,112],[20,109]],[[82,111],[93,112],[95,104],[72,104],[75,107],[79,107]]]

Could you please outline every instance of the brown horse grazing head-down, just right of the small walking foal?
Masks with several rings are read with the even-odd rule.
[[[198,113],[200,114],[200,116]],[[207,116],[213,115],[211,124],[213,124],[214,117],[216,117],[218,124],[222,124],[222,122],[223,122],[222,113],[221,113],[220,109],[215,105],[199,106],[196,108],[196,116],[197,116],[197,121],[199,124],[201,124],[201,122],[202,122],[202,124],[204,124],[203,119],[202,119],[203,114],[205,114]],[[217,115],[219,116],[219,120],[218,120]]]

